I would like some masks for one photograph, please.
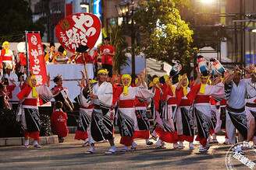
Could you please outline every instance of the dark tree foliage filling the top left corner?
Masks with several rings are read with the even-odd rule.
[[[0,35],[1,40],[22,41],[24,31],[40,31],[44,34],[44,25],[33,23],[32,12],[24,0],[0,0]]]

